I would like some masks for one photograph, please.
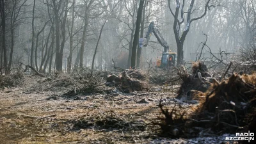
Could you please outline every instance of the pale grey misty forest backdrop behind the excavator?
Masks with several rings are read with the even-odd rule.
[[[178,62],[195,61],[201,51],[204,60],[211,60],[210,53],[237,54],[255,44],[255,0],[178,2],[145,0],[141,18],[143,37],[154,21],[170,50],[177,52]],[[20,68],[20,63],[43,73],[86,67],[112,70],[114,64],[129,68],[139,4],[138,0],[1,0],[1,73]],[[163,49],[152,34],[147,47],[141,48],[138,68],[156,65]]]

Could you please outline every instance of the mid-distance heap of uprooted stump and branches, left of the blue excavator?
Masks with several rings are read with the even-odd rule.
[[[120,92],[134,92],[148,89],[147,75],[141,70],[124,70],[119,76],[108,75],[106,85],[116,86]]]

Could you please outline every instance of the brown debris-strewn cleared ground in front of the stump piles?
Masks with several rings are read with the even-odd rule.
[[[159,100],[166,108],[178,102],[189,111],[193,103],[175,99],[179,85],[153,85],[153,92],[86,93],[65,96],[72,86],[54,87],[38,76],[0,90],[1,143],[224,143],[225,136],[202,131],[200,138],[161,138]]]

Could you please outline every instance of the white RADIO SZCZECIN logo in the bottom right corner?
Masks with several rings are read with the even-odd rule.
[[[236,136],[233,137],[226,137],[225,140],[227,141],[248,141],[248,143],[250,143],[250,141],[254,141],[254,133],[253,132],[244,132],[244,133],[236,133]]]

